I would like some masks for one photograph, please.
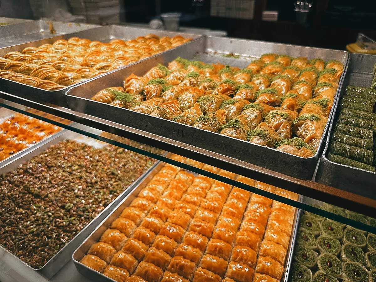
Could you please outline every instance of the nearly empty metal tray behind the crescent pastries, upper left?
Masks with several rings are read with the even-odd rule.
[[[0,18],[0,22],[2,19]],[[59,23],[55,21],[28,21],[3,26],[0,29],[0,47],[56,37],[67,33],[99,27],[93,24]]]

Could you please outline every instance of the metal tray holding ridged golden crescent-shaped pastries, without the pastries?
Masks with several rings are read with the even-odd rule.
[[[69,24],[65,24],[65,25],[69,25]],[[58,26],[54,25],[54,28],[56,30]],[[0,30],[0,32],[2,32],[2,29]],[[154,33],[158,36],[182,35],[185,38],[193,38],[193,39],[202,37],[201,35],[196,35],[196,34],[191,34],[191,33],[168,32],[168,31],[163,31],[163,30],[156,31],[153,29],[141,29],[141,28],[135,28],[135,27],[126,27],[126,26],[104,26],[104,27],[97,27],[97,28],[87,29],[87,30],[83,30],[79,32],[69,33],[65,35],[55,36],[52,38],[50,36],[50,38],[41,39],[38,41],[18,44],[18,45],[11,46],[11,47],[0,48],[0,56],[2,57],[6,53],[11,52],[11,51],[22,52],[24,48],[30,47],[30,46],[40,46],[46,43],[52,44],[53,42],[57,40],[69,39],[73,36],[77,36],[80,38],[87,38],[92,41],[98,40],[102,42],[109,42],[111,41],[111,39],[114,39],[114,38],[130,40],[130,39],[135,39],[138,36],[147,35],[149,33]],[[117,70],[109,71],[107,74],[111,74],[115,71]],[[103,76],[103,74],[100,76]],[[94,80],[100,76],[96,76],[90,80]],[[47,103],[55,104],[55,105],[62,106],[62,107],[67,106],[65,93],[68,91],[68,89],[70,89],[74,85],[79,85],[79,84],[80,83],[76,83],[63,89],[50,91],[50,90],[36,88],[34,86],[29,86],[23,83],[15,82],[15,81],[0,77],[0,90],[1,91],[16,95],[18,97],[22,97],[24,99],[28,99],[28,100],[32,100],[36,102],[38,101],[47,102]]]

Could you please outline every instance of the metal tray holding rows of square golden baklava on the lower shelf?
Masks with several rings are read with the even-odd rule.
[[[115,280],[109,278],[108,276],[104,275],[103,273],[100,273],[90,267],[87,267],[86,265],[82,264],[80,260],[83,258],[83,256],[86,255],[88,250],[90,249],[91,245],[98,242],[100,240],[100,237],[102,236],[103,232],[111,226],[112,221],[115,220],[115,218],[119,217],[121,212],[124,208],[129,206],[129,204],[133,201],[133,199],[136,198],[139,191],[141,191],[144,187],[146,187],[147,183],[149,183],[150,180],[153,179],[154,175],[159,172],[159,170],[164,166],[164,163],[161,162],[154,168],[153,171],[149,173],[147,177],[145,177],[133,190],[128,194],[128,196],[116,207],[114,210],[109,214],[102,223],[99,224],[99,226],[88,236],[88,238],[83,241],[83,243],[77,248],[77,250],[74,251],[72,258],[73,262],[76,265],[77,270],[85,277],[90,278],[91,280],[94,280],[96,282],[114,282]],[[189,171],[192,173],[191,171]],[[194,175],[197,175],[196,173],[193,173]],[[298,200],[300,201],[300,195]],[[298,220],[300,216],[300,210],[297,209],[294,216],[294,222],[290,235],[290,243],[287,249],[287,259],[285,261],[284,265],[284,274],[282,276],[282,279],[280,281],[287,282],[288,279],[288,273],[290,271],[291,262],[293,259],[293,248],[295,244],[295,238],[297,233],[297,226],[298,226]]]

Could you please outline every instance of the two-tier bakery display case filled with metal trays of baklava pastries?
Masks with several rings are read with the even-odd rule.
[[[374,281],[376,58],[61,33],[0,50],[1,281]]]

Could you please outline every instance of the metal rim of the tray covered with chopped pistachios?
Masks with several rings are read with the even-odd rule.
[[[64,134],[70,133],[69,130],[62,130],[62,132],[63,132]],[[79,133],[76,133],[76,134],[77,134],[77,136],[81,136],[81,134],[79,134]],[[43,142],[43,144],[39,144],[39,146],[34,146],[34,147],[33,147],[33,150],[34,150],[34,149],[38,149],[39,147],[42,147],[42,146],[44,146],[45,144],[47,144],[47,143],[49,143],[49,142],[52,142],[54,139],[59,138],[59,137],[61,137],[62,135],[63,135],[63,134],[60,134],[60,135],[58,135],[58,136],[54,136],[54,138],[48,140],[48,142],[47,142],[47,139],[49,139],[49,138],[47,138],[47,139],[45,140],[46,142]],[[90,137],[89,137],[89,138],[90,138]],[[28,152],[28,153],[29,153],[29,152]],[[30,153],[31,153],[31,152],[30,152]],[[20,156],[18,156],[18,157],[21,157],[21,156],[24,156],[24,155],[26,155],[26,154],[22,154],[22,155],[20,155]],[[14,161],[15,161],[15,160],[14,160]],[[141,181],[142,181],[142,180],[143,180],[143,179],[144,179],[144,178],[145,178],[150,172],[152,172],[152,171],[155,169],[156,166],[159,165],[159,163],[160,163],[160,161],[156,160],[156,162],[155,162],[150,168],[148,168],[143,174],[141,174],[141,176],[138,177],[138,179],[136,179],[135,182],[133,182],[131,185],[129,185],[129,187],[128,187],[126,190],[124,190],[124,191],[123,191],[123,192],[122,192],[117,198],[119,198],[119,197],[120,197],[120,198],[121,198],[121,197],[124,197],[124,199],[126,199],[127,196],[129,195],[129,193],[130,193],[131,191],[133,191],[133,190],[138,186],[138,184],[139,184],[139,183],[140,183],[140,182],[141,182]],[[9,164],[9,163],[8,163],[8,164]],[[7,164],[6,164],[6,165],[7,165]],[[1,167],[0,167],[0,168],[1,168]],[[114,203],[114,202],[116,201],[117,198],[115,198],[113,202],[111,202],[108,206],[106,206],[106,208],[103,209],[103,211],[108,211],[109,209],[113,208],[113,207],[112,207],[113,205],[111,205],[111,204]],[[121,200],[120,200],[120,203],[122,203],[124,199],[121,199]],[[102,211],[102,212],[103,212],[103,211]],[[85,229],[88,229],[88,227],[91,226],[93,222],[94,222],[94,223],[97,223],[97,222],[95,221],[95,219],[96,219],[97,217],[99,217],[99,215],[100,215],[102,212],[100,212],[95,218],[93,218],[88,224],[86,224],[86,226],[85,226],[80,232],[78,232],[78,233],[76,234],[75,237],[73,237],[70,241],[68,241],[68,243],[65,244],[65,246],[62,247],[62,248],[59,250],[59,252],[57,252],[55,255],[53,255],[53,256],[49,259],[49,261],[47,261],[46,264],[43,265],[43,266],[40,267],[40,268],[33,268],[33,267],[31,267],[31,266],[28,265],[26,262],[22,261],[20,258],[18,258],[17,256],[15,256],[12,252],[10,252],[10,251],[7,250],[5,247],[3,247],[1,244],[0,244],[0,249],[2,249],[2,250],[4,250],[4,251],[6,251],[7,253],[9,253],[10,255],[14,256],[18,261],[22,262],[24,265],[26,265],[26,266],[27,266],[28,268],[30,268],[31,270],[34,270],[34,271],[43,271],[47,266],[49,266],[49,262],[52,261],[52,259],[55,258],[56,256],[58,256],[60,253],[62,253],[62,252],[68,247],[69,243],[70,243],[71,241],[73,241],[73,240],[77,237],[77,235],[79,235],[79,233],[81,233],[81,232],[84,231]],[[111,214],[111,211],[110,211],[110,214]],[[107,217],[106,217],[106,218],[107,218]],[[99,223],[97,223],[97,224],[99,224]],[[96,227],[96,229],[97,229],[97,227]],[[96,229],[95,229],[95,230],[96,230]],[[63,267],[63,265],[61,265],[61,267]],[[60,268],[59,268],[59,270],[60,270]],[[58,271],[56,271],[56,272],[58,272]],[[56,273],[54,273],[54,274],[56,274]]]

